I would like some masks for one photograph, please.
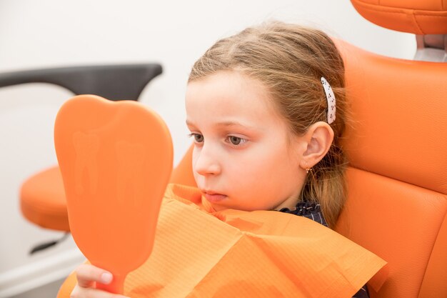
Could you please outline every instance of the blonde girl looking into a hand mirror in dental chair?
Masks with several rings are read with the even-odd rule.
[[[333,227],[346,199],[343,60],[323,32],[273,22],[221,39],[196,61],[186,91],[193,172],[204,204],[276,210]],[[111,274],[77,270],[71,297]],[[363,287],[355,297],[368,297]]]

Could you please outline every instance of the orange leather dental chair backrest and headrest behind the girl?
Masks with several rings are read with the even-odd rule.
[[[352,2],[382,26],[447,34],[445,0]],[[353,114],[343,144],[349,195],[336,230],[388,262],[371,298],[447,297],[447,64],[336,44]],[[194,185],[191,149],[171,180]]]

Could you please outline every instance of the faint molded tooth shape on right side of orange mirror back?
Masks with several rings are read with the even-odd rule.
[[[119,202],[134,202],[136,196],[144,192],[144,163],[147,152],[141,144],[118,141],[115,144],[116,196]]]

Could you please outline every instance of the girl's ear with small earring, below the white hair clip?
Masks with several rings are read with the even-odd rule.
[[[306,142],[306,150],[300,165],[303,169],[309,169],[328,153],[333,141],[333,130],[326,122],[318,121],[308,128],[303,140]]]

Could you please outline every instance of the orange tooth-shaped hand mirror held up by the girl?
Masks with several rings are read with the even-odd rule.
[[[97,287],[122,294],[126,275],[154,244],[172,169],[169,130],[135,101],[80,95],[59,110],[54,143],[74,240],[92,264],[114,274]]]

